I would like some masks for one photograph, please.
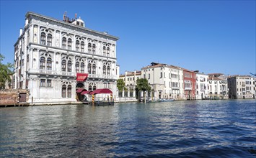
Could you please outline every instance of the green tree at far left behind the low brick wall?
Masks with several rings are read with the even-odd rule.
[[[13,65],[11,63],[3,64],[4,55],[0,54],[0,89],[5,89],[6,81],[11,83],[10,75],[12,75]]]

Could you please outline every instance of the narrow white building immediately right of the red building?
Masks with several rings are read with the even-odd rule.
[[[196,73],[196,99],[207,99],[209,95],[209,76],[207,74]]]

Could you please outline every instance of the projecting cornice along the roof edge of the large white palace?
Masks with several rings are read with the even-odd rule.
[[[59,19],[55,19],[55,18],[53,18],[53,17],[46,17],[46,16],[44,16],[44,15],[42,15],[42,14],[37,14],[37,13],[32,12],[32,11],[27,11],[27,14],[25,15],[25,17],[28,18],[30,15],[34,15],[34,16],[37,16],[37,17],[42,17],[42,18],[45,18],[45,19],[50,19],[50,20],[59,22],[59,23],[61,23],[61,24],[66,24],[66,25],[69,25],[69,26],[71,26],[71,27],[77,27],[77,28],[79,28],[79,29],[84,29],[84,30],[89,31],[89,32],[94,32],[94,33],[97,33],[97,34],[101,34],[101,35],[103,35],[103,36],[111,37],[111,38],[113,38],[113,39],[115,39],[115,40],[119,40],[118,37],[112,36],[112,35],[110,35],[110,34],[105,34],[105,33],[103,33],[103,32],[97,32],[97,31],[94,31],[94,30],[92,30],[92,29],[87,29],[87,28],[85,28],[85,27],[78,27],[78,26],[76,26],[75,24],[69,24],[69,23],[63,22],[63,21],[61,21],[61,20],[59,20]]]

